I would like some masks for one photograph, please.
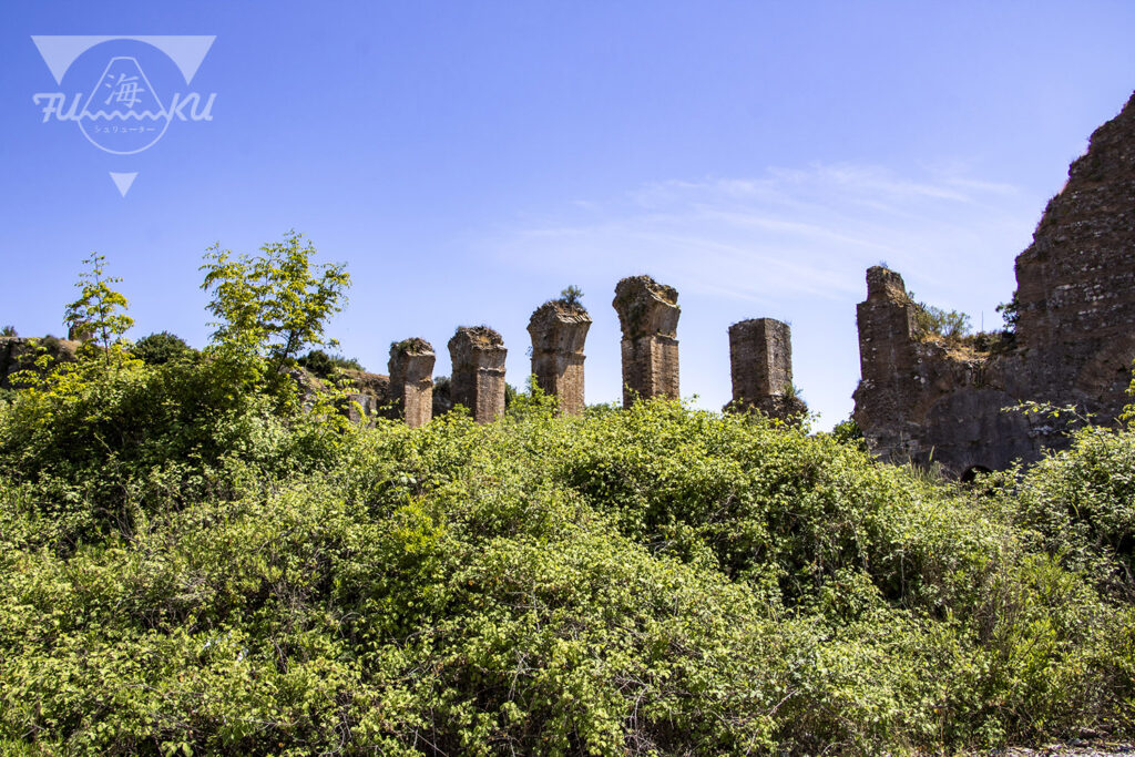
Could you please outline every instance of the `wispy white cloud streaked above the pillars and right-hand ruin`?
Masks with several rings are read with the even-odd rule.
[[[758,177],[655,182],[565,203],[488,244],[510,266],[571,276],[648,270],[716,296],[844,298],[886,260],[926,277],[1019,250],[1036,200],[957,167],[771,168]]]

